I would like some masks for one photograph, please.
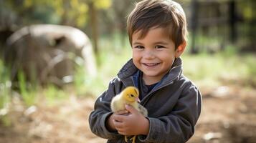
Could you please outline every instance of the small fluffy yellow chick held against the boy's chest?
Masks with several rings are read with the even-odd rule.
[[[111,110],[112,112],[118,112],[125,110],[125,104],[129,104],[135,109],[137,109],[144,117],[148,116],[148,111],[145,107],[138,102],[141,102],[138,98],[139,92],[136,87],[126,87],[120,94],[116,95],[111,101]],[[136,136],[133,136],[133,143],[135,143]],[[127,137],[125,136],[125,142],[128,142]]]

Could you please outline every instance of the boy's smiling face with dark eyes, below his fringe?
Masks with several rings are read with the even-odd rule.
[[[141,31],[132,35],[133,63],[143,72],[144,82],[154,84],[169,71],[175,57],[182,52],[175,50],[174,42],[163,28],[149,29],[145,37],[140,39],[140,36]]]

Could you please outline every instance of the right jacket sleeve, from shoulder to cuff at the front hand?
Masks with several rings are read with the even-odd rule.
[[[184,91],[169,114],[158,118],[148,117],[149,132],[147,136],[138,136],[141,142],[184,143],[189,140],[201,113],[202,97],[194,86]]]

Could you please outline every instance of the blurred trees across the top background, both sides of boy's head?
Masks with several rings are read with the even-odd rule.
[[[0,0],[0,41],[13,27],[62,24],[86,30],[97,54],[100,35],[111,37],[118,31],[120,43],[124,43],[126,18],[134,1],[140,0]],[[219,51],[229,43],[256,51],[255,0],[176,1],[187,14],[191,53]]]

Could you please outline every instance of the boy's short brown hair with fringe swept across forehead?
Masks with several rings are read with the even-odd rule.
[[[141,31],[146,36],[149,29],[162,27],[166,29],[175,48],[186,41],[186,15],[181,5],[172,0],[143,0],[136,4],[127,20],[127,31],[132,45],[132,35]]]

